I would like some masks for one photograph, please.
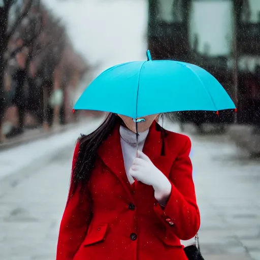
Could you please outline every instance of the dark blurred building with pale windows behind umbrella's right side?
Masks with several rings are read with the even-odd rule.
[[[260,122],[259,0],[149,0],[148,46],[154,59],[208,70],[232,96],[238,122]],[[228,123],[234,116],[220,118]]]

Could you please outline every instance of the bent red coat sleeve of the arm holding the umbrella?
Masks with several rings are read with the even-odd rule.
[[[157,202],[154,205],[154,210],[160,219],[180,240],[194,237],[200,228],[200,212],[189,158],[190,149],[191,142],[186,137],[185,146],[171,168],[169,180],[172,190],[169,200],[164,208]]]

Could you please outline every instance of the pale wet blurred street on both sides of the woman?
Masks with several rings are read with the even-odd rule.
[[[0,153],[0,259],[55,258],[75,140],[97,123]],[[260,259],[259,162],[222,137],[190,137],[205,258]]]

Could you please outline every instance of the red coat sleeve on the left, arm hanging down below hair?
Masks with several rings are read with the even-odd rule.
[[[79,144],[77,143],[73,155],[71,179],[73,179],[73,169],[78,152]],[[71,260],[74,258],[86,236],[90,221],[91,210],[87,196],[83,196],[79,189],[73,191],[71,181],[67,204],[60,223],[56,260]]]

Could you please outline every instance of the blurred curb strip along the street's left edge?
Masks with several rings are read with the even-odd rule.
[[[66,124],[64,126],[59,126],[57,128],[55,128],[55,126],[54,126],[54,128],[51,129],[47,133],[40,132],[39,134],[36,134],[35,136],[34,135],[30,135],[30,136],[27,136],[27,137],[20,136],[20,138],[17,138],[16,140],[10,140],[10,141],[4,142],[3,144],[0,144],[0,151],[8,150],[8,149],[11,149],[13,147],[20,146],[24,143],[30,143],[30,142],[33,142],[33,141],[45,139],[45,138],[48,138],[50,136],[66,132],[67,130],[70,130],[71,128],[73,128],[73,127],[75,127],[79,124],[80,124],[80,121],[76,122],[76,123]]]

